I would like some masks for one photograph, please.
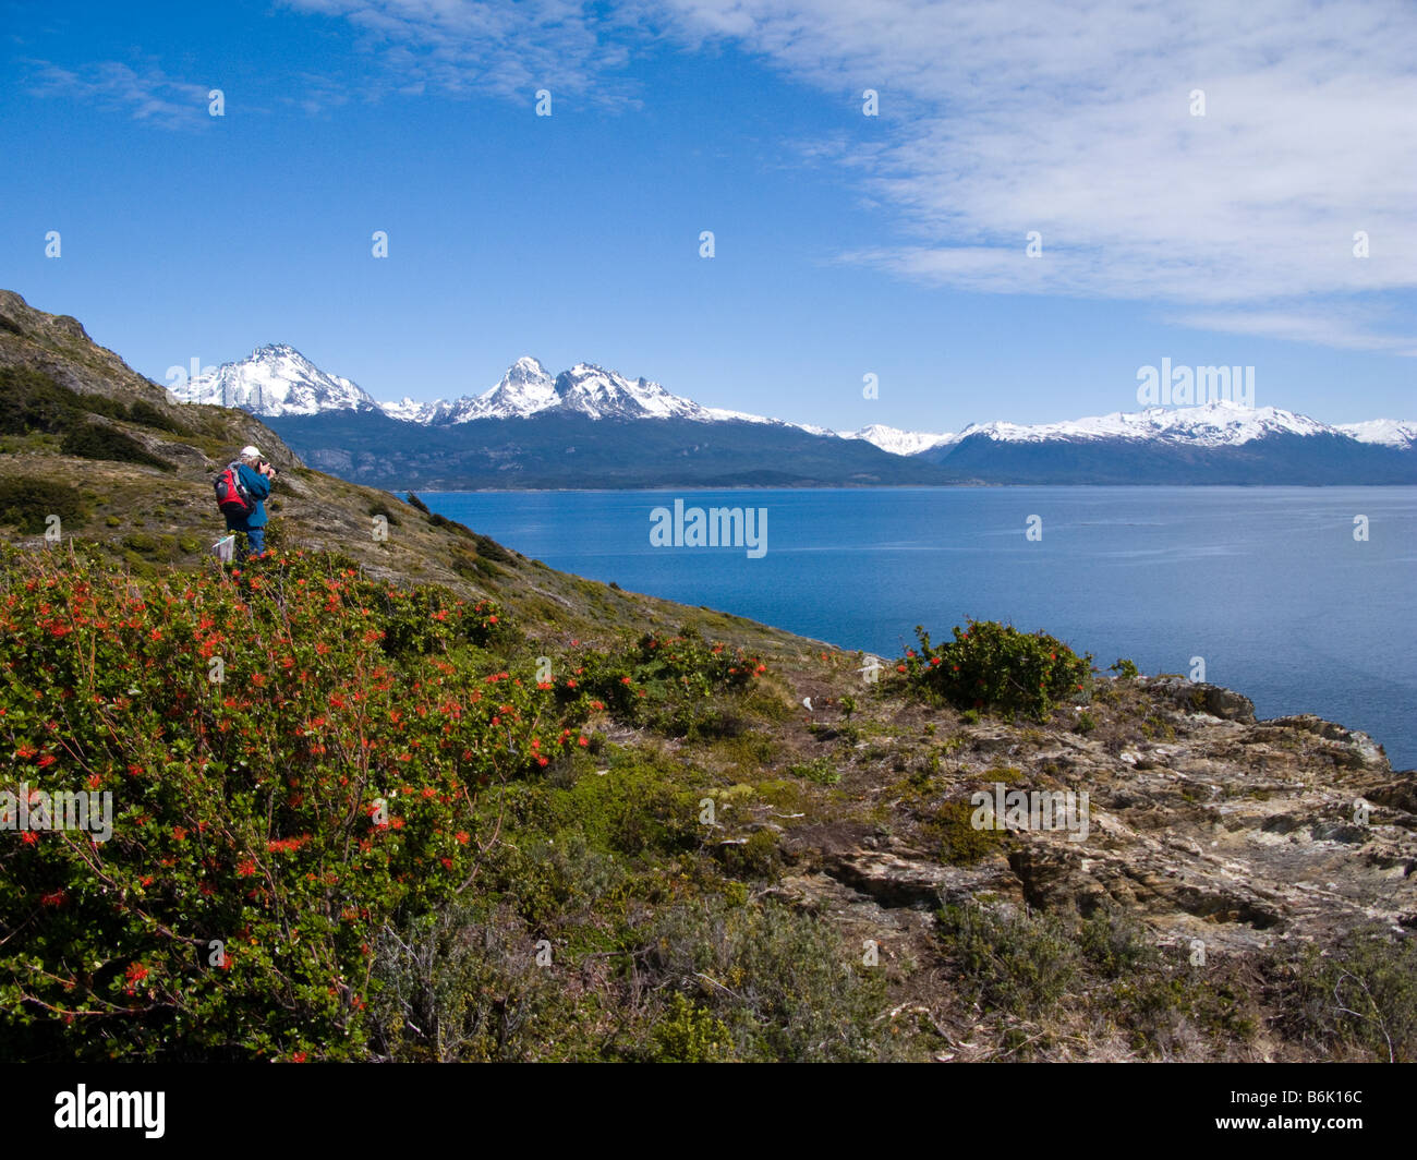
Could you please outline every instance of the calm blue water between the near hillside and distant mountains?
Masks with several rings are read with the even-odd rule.
[[[650,509],[765,508],[767,554],[652,547]],[[1101,667],[1189,672],[1417,764],[1417,489],[893,488],[444,492],[428,505],[553,567],[897,657],[924,624],[1044,628]],[[1024,537],[1029,516],[1043,537]],[[1353,539],[1366,515],[1370,539]]]

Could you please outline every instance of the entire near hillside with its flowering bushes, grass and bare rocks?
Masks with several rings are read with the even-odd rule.
[[[0,830],[0,1058],[1417,1055],[1417,776],[1360,733],[998,625],[870,682],[310,471],[16,295],[0,404],[0,817],[112,803]],[[275,550],[222,569],[248,441]],[[1019,791],[1087,834],[979,824]]]

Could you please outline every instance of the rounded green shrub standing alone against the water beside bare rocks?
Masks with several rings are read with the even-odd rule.
[[[920,652],[897,665],[907,682],[959,709],[993,709],[1044,720],[1061,701],[1085,698],[1091,655],[1078,657],[1046,632],[1019,632],[998,621],[971,620],[954,640],[931,645],[920,625]]]

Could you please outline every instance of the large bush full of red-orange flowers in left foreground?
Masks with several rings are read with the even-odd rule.
[[[584,737],[588,698],[463,655],[503,620],[333,557],[0,559],[0,793],[112,796],[108,841],[0,828],[0,1058],[359,1058],[373,932]]]

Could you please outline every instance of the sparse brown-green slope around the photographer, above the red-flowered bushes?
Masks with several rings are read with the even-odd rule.
[[[68,416],[54,387],[77,396]],[[142,421],[132,417],[135,404]],[[137,450],[119,452],[128,459],[74,454],[67,438],[88,427],[123,435]],[[495,596],[524,623],[554,623],[572,635],[589,638],[605,624],[649,631],[682,623],[684,610],[669,601],[553,571],[388,492],[313,471],[245,411],[173,404],[163,387],[95,345],[77,319],[0,292],[0,528],[17,542],[43,545],[44,518],[58,511],[65,537],[133,567],[203,566],[224,535],[211,476],[245,444],[258,445],[279,471],[266,505],[275,545],[337,550],[373,576]],[[133,461],[139,452],[160,462]],[[71,488],[77,495],[68,496]],[[380,513],[388,520],[385,540],[376,539]],[[720,634],[747,634],[760,645],[788,640],[745,620],[708,618]]]

